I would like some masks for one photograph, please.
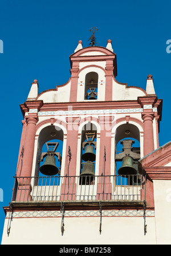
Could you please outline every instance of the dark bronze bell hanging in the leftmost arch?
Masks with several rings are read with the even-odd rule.
[[[54,155],[47,155],[44,164],[40,166],[40,173],[44,175],[56,175],[58,173],[58,167],[55,164]]]

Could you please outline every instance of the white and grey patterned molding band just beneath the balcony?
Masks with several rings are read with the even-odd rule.
[[[9,218],[9,212],[6,218]],[[146,210],[146,217],[154,217],[155,212]],[[104,210],[103,217],[143,217],[144,210]],[[11,217],[11,215],[10,215]],[[62,217],[60,211],[14,211],[13,218],[44,218],[44,217]],[[85,211],[65,211],[65,217],[100,217],[99,210],[85,210]]]

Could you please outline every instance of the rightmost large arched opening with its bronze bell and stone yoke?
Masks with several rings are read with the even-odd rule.
[[[115,170],[117,184],[139,183],[138,160],[140,159],[140,131],[130,123],[120,125],[115,137]]]

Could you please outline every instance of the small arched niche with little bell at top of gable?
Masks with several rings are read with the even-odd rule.
[[[98,94],[98,74],[89,72],[86,74],[84,99],[97,99]]]

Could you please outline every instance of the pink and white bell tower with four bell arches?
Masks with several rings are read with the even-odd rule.
[[[70,63],[68,82],[39,92],[35,79],[20,105],[2,243],[156,243],[155,187],[145,169],[159,147],[162,100],[153,77],[146,90],[118,82],[111,40],[79,41]]]

